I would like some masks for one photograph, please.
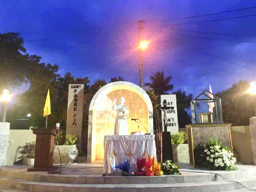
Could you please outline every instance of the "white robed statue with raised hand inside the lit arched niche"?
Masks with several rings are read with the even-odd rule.
[[[115,135],[128,135],[128,126],[126,115],[129,114],[128,107],[124,104],[124,97],[121,97],[120,104],[117,103],[117,98],[114,99],[113,109],[117,111],[115,118]]]

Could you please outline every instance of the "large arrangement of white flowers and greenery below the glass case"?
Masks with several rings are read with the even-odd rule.
[[[234,154],[228,147],[223,147],[217,139],[209,139],[202,155],[205,159],[204,164],[210,170],[237,170]]]

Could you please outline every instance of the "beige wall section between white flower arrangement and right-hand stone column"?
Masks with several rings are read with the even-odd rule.
[[[252,143],[249,126],[232,126],[231,137],[238,163],[253,164]]]

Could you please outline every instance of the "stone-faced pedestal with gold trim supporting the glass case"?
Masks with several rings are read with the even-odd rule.
[[[209,138],[216,139],[221,141],[223,146],[232,148],[232,139],[231,139],[231,124],[225,123],[201,123],[201,124],[192,124],[186,125],[188,133],[188,147],[189,147],[189,161],[192,166],[200,165],[197,162],[196,154],[194,154],[196,146],[201,144],[206,144]]]

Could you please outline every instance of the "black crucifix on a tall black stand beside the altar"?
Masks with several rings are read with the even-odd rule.
[[[162,132],[162,155],[161,159],[162,162],[165,160],[173,160],[173,147],[171,145],[171,133],[170,131],[167,131],[167,121],[168,121],[168,116],[167,116],[167,110],[173,109],[173,107],[167,107],[167,102],[166,100],[163,101],[163,107],[160,107],[160,110],[163,111],[164,113],[164,131]]]

